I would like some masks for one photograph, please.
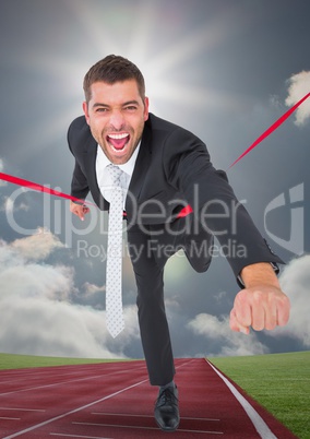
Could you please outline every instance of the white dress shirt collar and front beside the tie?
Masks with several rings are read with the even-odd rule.
[[[136,146],[134,150],[132,156],[130,159],[124,163],[123,165],[117,165],[122,171],[121,176],[121,187],[123,190],[123,207],[124,207],[124,202],[126,202],[126,197],[128,192],[128,188],[130,185],[130,180],[133,174],[135,161],[139,154],[140,150],[140,144]],[[108,159],[106,154],[103,152],[103,149],[100,145],[97,146],[97,157],[96,157],[96,177],[98,181],[98,187],[100,189],[100,192],[103,197],[107,200],[110,201],[110,190],[111,190],[111,179],[109,176],[108,170],[106,169],[108,165],[110,165],[111,162]]]

